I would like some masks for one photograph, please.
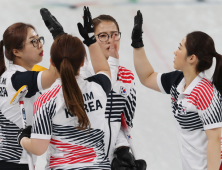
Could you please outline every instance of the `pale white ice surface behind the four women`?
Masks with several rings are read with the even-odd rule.
[[[220,0],[1,0],[0,35],[15,22],[33,24],[45,37],[44,57],[40,65],[49,66],[52,36],[45,27],[39,10],[48,8],[63,25],[65,32],[80,37],[77,23],[82,22],[82,6],[88,5],[92,17],[112,15],[122,33],[120,65],[133,71],[136,80],[137,107],[132,136],[139,158],[147,170],[181,170],[177,134],[171,113],[169,95],[141,85],[133,65],[131,32],[137,10],[143,14],[143,39],[147,57],[156,72],[173,71],[173,52],[187,33],[204,31],[222,53],[222,2]],[[1,36],[2,39],[2,36]],[[45,156],[38,157],[36,170],[43,170]]]

